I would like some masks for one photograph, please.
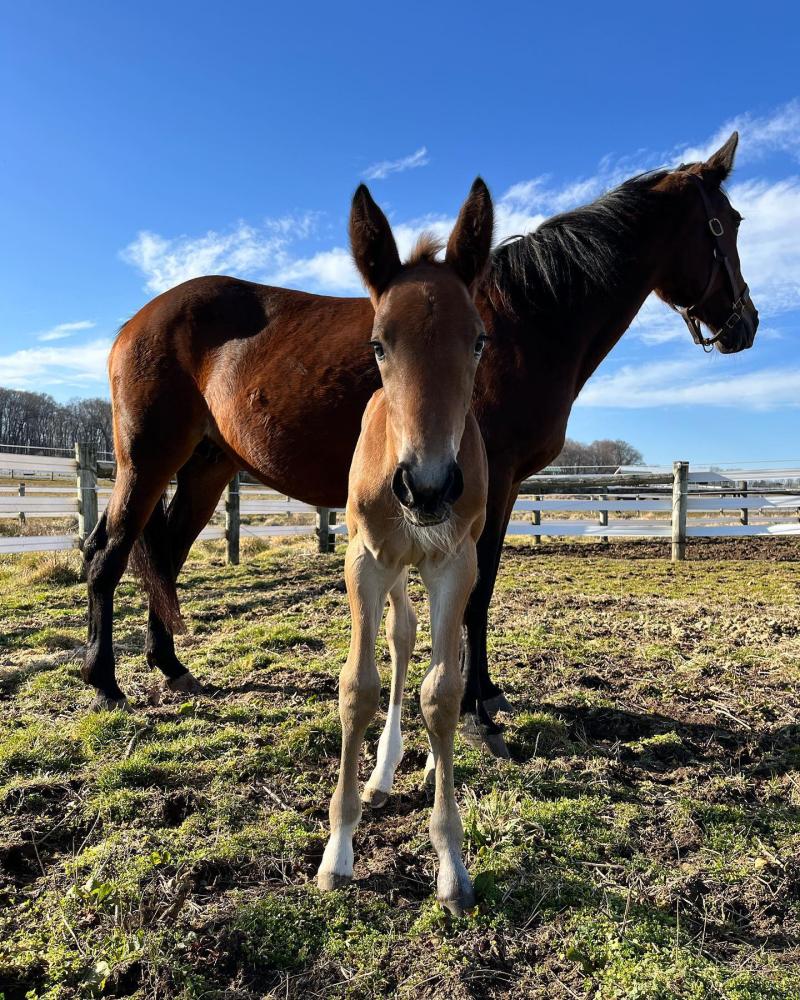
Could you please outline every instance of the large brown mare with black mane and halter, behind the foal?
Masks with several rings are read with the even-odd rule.
[[[488,673],[487,613],[519,483],[558,454],[575,397],[653,290],[687,310],[693,336],[696,321],[706,324],[722,353],[753,343],[758,314],[739,267],[740,217],[721,189],[737,141],[734,133],[704,163],[633,178],[504,243],[477,291],[491,338],[473,396],[489,493],[465,614],[462,710],[495,752],[502,736],[486,705],[503,696]],[[171,687],[188,689],[195,682],[172,638],[175,580],[234,472],[311,504],[344,505],[361,415],[380,385],[373,318],[369,299],[209,277],[158,296],[122,328],[109,360],[117,481],[85,547],[83,676],[96,704],[124,703],[113,600],[137,540],[150,595],[148,662]],[[165,510],[160,498],[176,472]]]

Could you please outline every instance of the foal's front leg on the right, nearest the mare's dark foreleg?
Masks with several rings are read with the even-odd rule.
[[[464,608],[475,585],[477,558],[471,541],[446,562],[420,566],[431,602],[431,666],[422,682],[420,703],[435,766],[436,792],[430,833],[439,858],[436,896],[456,916],[475,903],[461,859],[464,829],[453,787],[453,738],[463,681],[459,660]]]

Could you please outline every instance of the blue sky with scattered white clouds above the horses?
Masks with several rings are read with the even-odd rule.
[[[648,302],[569,433],[796,460],[800,15],[779,7],[6,4],[0,385],[107,395],[119,323],[195,274],[357,292],[362,178],[408,246],[481,173],[503,236],[736,126],[754,349],[703,355]]]

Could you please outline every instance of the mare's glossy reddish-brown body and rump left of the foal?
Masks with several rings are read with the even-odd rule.
[[[186,281],[121,329],[109,359],[115,414],[131,442],[179,424],[263,482],[338,504],[377,381],[372,315],[366,298]]]

